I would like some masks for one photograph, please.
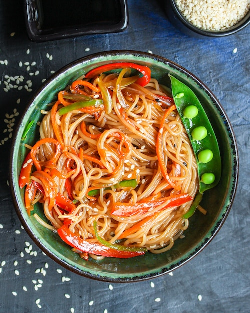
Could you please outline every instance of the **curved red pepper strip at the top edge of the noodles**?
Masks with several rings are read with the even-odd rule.
[[[143,74],[142,77],[140,77],[136,80],[136,83],[138,83],[142,87],[146,86],[150,81],[151,70],[149,67],[138,65],[135,63],[127,63],[127,62],[110,63],[110,64],[96,67],[96,68],[90,70],[87,74],[85,74],[85,78],[93,78],[99,74],[106,72],[106,71],[114,70],[114,69],[120,69],[120,68],[134,68],[134,69],[138,70],[141,74]]]

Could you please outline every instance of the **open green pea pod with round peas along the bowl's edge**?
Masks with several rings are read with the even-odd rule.
[[[221,177],[221,156],[215,132],[195,93],[170,75],[172,95],[197,161],[199,192],[216,186]]]

